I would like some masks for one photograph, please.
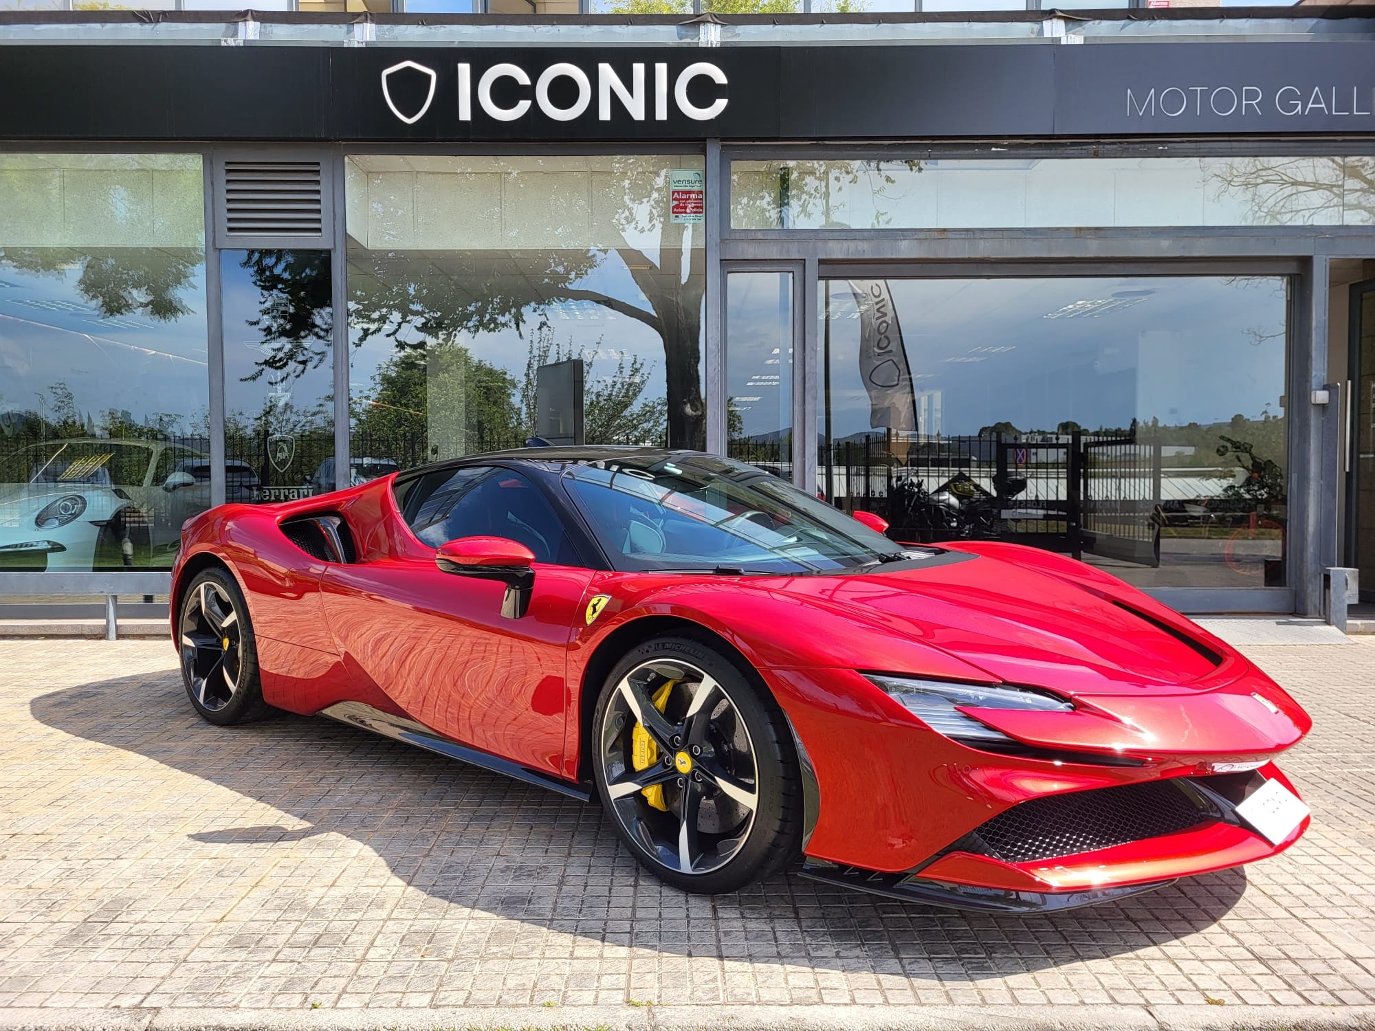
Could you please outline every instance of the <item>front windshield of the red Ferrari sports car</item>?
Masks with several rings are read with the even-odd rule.
[[[617,569],[818,573],[898,544],[754,466],[707,455],[569,466],[562,483]]]

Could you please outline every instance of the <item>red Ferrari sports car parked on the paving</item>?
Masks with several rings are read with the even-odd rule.
[[[872,520],[870,520],[872,522]],[[190,520],[212,723],[320,713],[579,799],[686,891],[1063,909],[1273,855],[1308,715],[1125,583],[896,544],[751,466],[531,448]]]

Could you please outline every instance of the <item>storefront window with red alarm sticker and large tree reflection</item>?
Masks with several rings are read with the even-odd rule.
[[[351,157],[346,184],[355,462],[704,445],[701,157]]]

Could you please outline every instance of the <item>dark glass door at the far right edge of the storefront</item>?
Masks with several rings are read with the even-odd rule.
[[[1348,561],[1360,570],[1361,601],[1375,601],[1375,279],[1352,286],[1352,443],[1346,491]]]

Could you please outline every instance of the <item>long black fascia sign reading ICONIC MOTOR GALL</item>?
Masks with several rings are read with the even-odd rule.
[[[8,45],[0,139],[846,140],[1375,132],[1375,43]]]

